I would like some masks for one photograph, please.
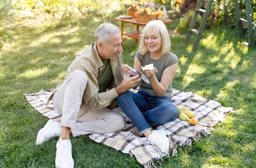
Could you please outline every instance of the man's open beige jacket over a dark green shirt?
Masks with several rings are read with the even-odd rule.
[[[117,59],[110,59],[114,79],[112,79],[108,87],[108,91],[98,93],[99,85],[97,79],[99,78],[99,73],[104,68],[104,65],[99,57],[96,44],[94,42],[91,46],[81,50],[76,55],[76,58],[67,68],[67,75],[65,79],[67,79],[67,77],[74,70],[81,70],[85,72],[85,74],[88,76],[88,82],[83,92],[82,103],[87,105],[90,109],[101,109],[106,105],[108,105],[108,108],[113,109],[117,106],[117,103],[115,103],[114,99],[118,96],[114,87],[122,82],[123,73],[120,66],[121,63],[123,63],[123,57],[121,53],[118,55]],[[63,81],[61,81],[56,89],[54,89],[52,94],[47,99],[47,103],[52,100],[54,93],[62,83]]]

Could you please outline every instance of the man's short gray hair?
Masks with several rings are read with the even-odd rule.
[[[110,34],[120,33],[120,29],[111,23],[103,23],[99,25],[94,32],[96,44],[101,42],[104,46],[107,46],[108,41],[110,41]]]

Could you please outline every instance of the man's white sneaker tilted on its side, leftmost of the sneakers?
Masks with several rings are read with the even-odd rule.
[[[36,137],[36,145],[43,144],[52,137],[59,136],[61,133],[61,124],[50,119],[45,127],[40,129]]]

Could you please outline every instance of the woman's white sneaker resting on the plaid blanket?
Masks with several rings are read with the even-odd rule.
[[[162,152],[169,153],[169,139],[166,137],[164,129],[153,130],[153,133],[148,136],[148,140]]]

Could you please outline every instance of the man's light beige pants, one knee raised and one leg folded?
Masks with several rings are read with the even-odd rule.
[[[73,137],[123,129],[124,118],[118,113],[106,107],[90,109],[82,104],[87,81],[88,77],[83,71],[74,70],[55,92],[52,104],[62,113],[61,127],[70,127]]]

